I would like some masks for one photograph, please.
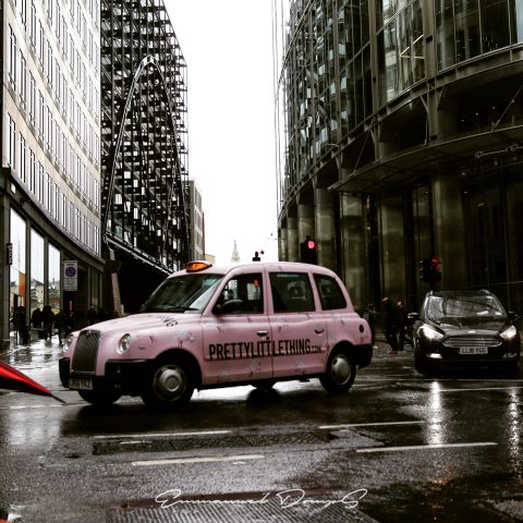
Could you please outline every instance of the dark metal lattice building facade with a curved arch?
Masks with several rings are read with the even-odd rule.
[[[102,1],[101,231],[166,273],[188,258],[186,93],[162,0]]]

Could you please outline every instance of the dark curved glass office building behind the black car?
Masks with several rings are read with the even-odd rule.
[[[523,312],[523,2],[275,1],[279,251],[357,307],[430,288]],[[441,280],[419,279],[436,257]]]

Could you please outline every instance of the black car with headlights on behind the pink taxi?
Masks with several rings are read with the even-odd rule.
[[[422,374],[442,365],[520,366],[520,333],[514,313],[507,313],[489,291],[431,291],[415,321],[414,365]]]

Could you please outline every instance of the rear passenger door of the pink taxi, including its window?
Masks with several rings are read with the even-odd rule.
[[[307,272],[269,273],[275,378],[325,372],[327,326]]]

